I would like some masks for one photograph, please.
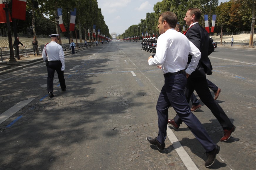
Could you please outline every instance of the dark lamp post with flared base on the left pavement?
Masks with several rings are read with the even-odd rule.
[[[7,25],[7,32],[8,32],[8,41],[9,41],[9,48],[10,48],[10,60],[6,65],[11,66],[19,66],[20,63],[18,63],[14,57],[13,53],[13,46],[12,46],[12,39],[11,39],[11,26],[10,26],[10,19],[9,19],[9,0],[2,0],[3,4],[5,5],[5,15],[6,15],[6,25]]]

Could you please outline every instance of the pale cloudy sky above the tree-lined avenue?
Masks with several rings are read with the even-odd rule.
[[[131,25],[137,25],[147,13],[152,13],[154,5],[161,0],[97,0],[109,33],[122,34]],[[229,0],[219,0],[227,2]]]

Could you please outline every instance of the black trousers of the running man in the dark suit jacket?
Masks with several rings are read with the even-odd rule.
[[[221,127],[223,129],[230,130],[234,126],[226,113],[223,111],[221,106],[214,100],[214,98],[211,95],[211,92],[208,88],[208,83],[206,80],[206,77],[188,77],[187,79],[187,101],[189,102],[188,96],[191,96],[191,94],[196,90],[196,93],[198,94],[201,101],[211,110],[213,115],[216,117],[216,119],[221,124]],[[179,118],[179,115],[176,115],[174,117],[174,121],[177,124],[182,123],[182,119]]]

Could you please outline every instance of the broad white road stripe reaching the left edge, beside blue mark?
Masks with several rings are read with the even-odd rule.
[[[28,100],[23,100],[11,107],[10,109],[6,110],[4,113],[0,115],[0,124],[3,123],[6,119],[11,117],[14,113],[18,112],[22,107],[26,106],[35,98],[28,98]]]

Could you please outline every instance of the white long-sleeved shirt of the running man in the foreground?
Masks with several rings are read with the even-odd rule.
[[[178,72],[185,70],[189,54],[192,55],[192,60],[186,69],[187,74],[196,70],[201,52],[184,34],[169,29],[158,37],[156,54],[148,60],[148,64],[162,65],[164,74]]]

